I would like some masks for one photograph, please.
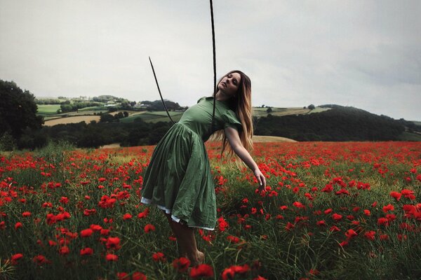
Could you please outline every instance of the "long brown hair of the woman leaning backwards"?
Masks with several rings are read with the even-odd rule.
[[[247,151],[253,151],[253,141],[251,140],[251,137],[253,137],[253,109],[251,107],[251,81],[248,76],[239,71],[239,70],[233,70],[229,71],[227,74],[222,76],[220,80],[217,83],[217,88],[215,89],[215,92],[218,92],[218,85],[220,84],[221,80],[228,76],[230,73],[239,73],[241,76],[241,81],[239,88],[235,94],[234,97],[229,99],[229,109],[232,109],[236,113],[236,116],[239,118],[241,125],[243,127],[242,131],[239,131],[239,137],[241,140],[241,144],[244,148],[246,148]],[[213,97],[215,98],[214,94]],[[224,130],[218,130],[214,134],[212,134],[213,139],[220,139],[222,138],[222,150],[221,150],[221,158],[222,154],[225,151],[225,148],[227,148],[227,155],[231,159],[232,156],[235,156],[236,159],[236,166],[240,168],[240,165],[242,167],[245,167],[244,162],[239,159],[239,157],[234,153],[230,145],[227,145],[228,139],[225,136]]]

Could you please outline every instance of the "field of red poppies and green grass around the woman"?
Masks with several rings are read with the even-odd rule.
[[[153,146],[0,153],[0,279],[421,279],[421,143],[262,143],[267,177],[219,157],[205,263],[140,204]]]

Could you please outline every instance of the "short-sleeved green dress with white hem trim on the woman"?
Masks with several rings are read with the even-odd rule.
[[[171,213],[173,221],[206,230],[215,228],[216,200],[204,142],[226,127],[242,130],[229,104],[216,100],[210,133],[212,113],[213,97],[201,97],[156,144],[143,176],[141,200]]]

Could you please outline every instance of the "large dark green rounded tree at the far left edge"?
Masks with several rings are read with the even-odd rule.
[[[26,127],[40,129],[44,118],[36,116],[34,94],[22,91],[15,82],[0,80],[0,134],[10,133],[15,139]]]

